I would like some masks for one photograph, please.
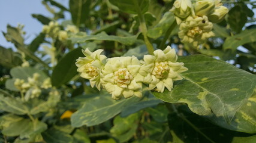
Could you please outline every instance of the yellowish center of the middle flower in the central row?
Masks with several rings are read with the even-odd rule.
[[[118,86],[120,86],[121,88],[127,88],[127,85],[129,85],[129,83],[132,80],[132,75],[129,73],[129,71],[126,68],[123,69],[119,69],[118,71],[115,71],[114,73],[115,77],[115,81],[118,84]]]

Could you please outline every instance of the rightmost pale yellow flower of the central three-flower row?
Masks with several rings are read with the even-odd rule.
[[[149,84],[149,90],[164,92],[167,88],[171,91],[173,82],[182,79],[179,73],[188,69],[183,63],[177,62],[175,49],[170,46],[164,51],[158,49],[153,54],[144,55],[144,64],[140,69],[140,74],[144,77],[143,82]]]

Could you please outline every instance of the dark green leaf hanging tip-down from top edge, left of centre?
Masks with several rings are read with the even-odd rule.
[[[70,13],[73,23],[79,27],[89,17],[91,0],[70,0]]]

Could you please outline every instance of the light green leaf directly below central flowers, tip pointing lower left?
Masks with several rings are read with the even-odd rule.
[[[82,108],[71,116],[71,125],[74,127],[98,125],[116,116],[125,106],[139,100],[140,98],[131,97],[115,101],[112,100],[109,94],[100,95],[100,97],[95,97],[86,102]]]

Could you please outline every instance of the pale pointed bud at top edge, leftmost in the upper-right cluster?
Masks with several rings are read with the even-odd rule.
[[[192,11],[192,4],[189,0],[176,0],[170,10],[176,17],[186,18]]]

